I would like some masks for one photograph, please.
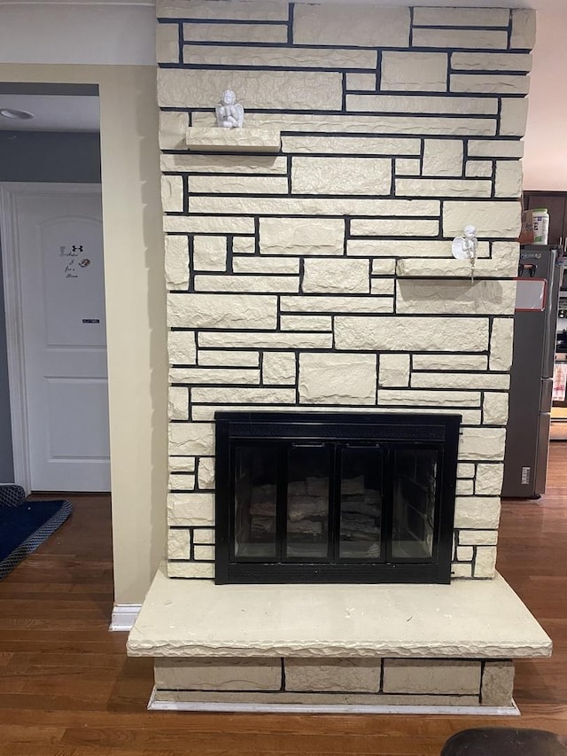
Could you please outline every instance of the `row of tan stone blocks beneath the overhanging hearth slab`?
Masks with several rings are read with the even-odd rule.
[[[514,666],[485,659],[157,659],[161,702],[509,706]]]

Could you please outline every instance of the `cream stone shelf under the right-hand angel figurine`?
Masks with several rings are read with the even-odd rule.
[[[468,278],[469,261],[455,260],[453,257],[400,258],[396,263],[396,274],[400,278]],[[475,263],[474,277],[511,278],[513,273],[509,261],[494,261],[481,258]]]

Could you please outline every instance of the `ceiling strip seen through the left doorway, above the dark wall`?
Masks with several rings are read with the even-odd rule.
[[[0,111],[12,108],[33,113],[18,121],[0,115],[2,131],[98,131],[98,97],[0,93]]]

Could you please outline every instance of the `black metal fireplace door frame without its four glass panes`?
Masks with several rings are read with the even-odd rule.
[[[216,412],[215,582],[227,583],[449,583],[459,429],[456,414],[363,414],[328,412]],[[275,448],[281,461],[296,445],[330,449],[335,469],[341,449],[381,450],[386,460],[400,450],[436,453],[435,516],[430,557],[392,558],[392,473],[384,477],[384,520],[380,558],[337,558],[338,476],[330,483],[330,546],[324,558],[290,559],[285,552],[286,494],[278,462],[277,556],[237,557],[235,553],[236,449]],[[284,463],[285,464],[285,463]]]

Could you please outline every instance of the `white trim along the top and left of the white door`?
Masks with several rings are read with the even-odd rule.
[[[26,360],[18,249],[18,199],[22,196],[100,194],[100,183],[0,182],[0,246],[4,277],[8,390],[12,425],[14,482],[31,491],[30,451],[27,433]]]

